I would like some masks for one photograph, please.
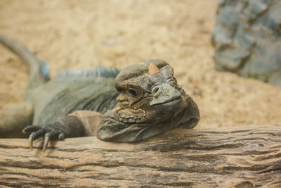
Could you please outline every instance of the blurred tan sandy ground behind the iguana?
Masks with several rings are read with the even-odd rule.
[[[281,89],[213,70],[216,0],[1,0],[0,33],[64,68],[124,68],[162,58],[197,102],[197,128],[279,125]],[[28,70],[0,46],[0,108],[22,101]]]

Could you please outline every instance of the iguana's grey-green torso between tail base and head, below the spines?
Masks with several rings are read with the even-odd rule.
[[[32,124],[44,125],[79,110],[105,113],[115,107],[118,92],[113,77],[55,77],[32,94]]]

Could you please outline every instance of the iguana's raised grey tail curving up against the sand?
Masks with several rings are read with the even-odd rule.
[[[44,61],[40,61],[31,51],[19,42],[15,42],[0,35],[0,43],[18,55],[22,61],[30,68],[30,80],[25,91],[25,99],[28,99],[28,93],[31,89],[46,83],[49,80],[48,68]]]

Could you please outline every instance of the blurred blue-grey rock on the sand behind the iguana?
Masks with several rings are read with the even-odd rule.
[[[211,42],[215,69],[281,87],[281,1],[221,0]]]

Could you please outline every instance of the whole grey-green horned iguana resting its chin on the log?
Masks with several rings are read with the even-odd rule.
[[[0,42],[30,68],[23,104],[9,109],[6,119],[5,108],[0,111],[1,135],[18,135],[23,129],[30,133],[30,149],[40,137],[43,151],[48,142],[67,137],[138,142],[176,127],[190,129],[200,120],[197,104],[178,84],[174,68],[161,59],[148,59],[121,71],[65,70],[49,80],[46,64],[25,46],[1,35]],[[9,126],[15,130],[5,130]]]

